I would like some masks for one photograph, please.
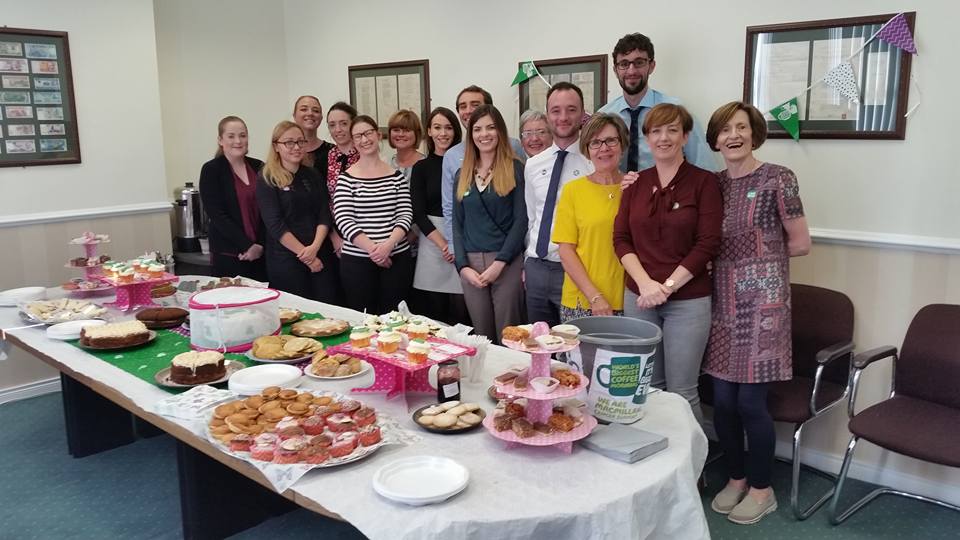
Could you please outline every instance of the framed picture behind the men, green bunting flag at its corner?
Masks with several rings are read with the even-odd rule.
[[[520,65],[523,62],[519,63]],[[603,107],[607,99],[607,55],[576,56],[534,60],[541,77],[533,77],[520,83],[520,111],[528,109],[547,111],[547,90],[560,81],[573,83],[583,92],[583,108],[593,114]],[[518,66],[519,67],[519,66]],[[546,79],[546,80],[544,80]],[[520,116],[518,115],[517,118]]]

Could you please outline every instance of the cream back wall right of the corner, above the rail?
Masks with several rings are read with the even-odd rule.
[[[285,6],[291,91],[313,90],[326,104],[349,95],[348,65],[429,58],[433,106],[453,105],[459,89],[476,83],[493,94],[510,124],[517,91],[509,85],[518,61],[609,54],[620,36],[644,32],[656,46],[652,86],[679,96],[705,123],[716,107],[743,94],[747,26],[916,10],[914,73],[923,105],[910,117],[905,141],[775,140],[761,157],[797,172],[814,227],[960,239],[954,217],[960,182],[948,157],[954,123],[941,114],[960,82],[955,69],[945,68],[960,53],[955,3],[426,0],[401,8],[371,0],[334,8],[286,0]],[[612,66],[608,88],[611,96],[620,90]],[[910,93],[916,103],[919,95]]]

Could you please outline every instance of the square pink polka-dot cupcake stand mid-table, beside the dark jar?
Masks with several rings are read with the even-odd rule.
[[[436,389],[430,385],[427,376],[430,367],[439,364],[445,360],[452,360],[461,356],[473,356],[477,354],[477,349],[458,345],[456,343],[431,337],[427,341],[433,346],[427,361],[422,364],[414,364],[407,361],[404,347],[391,354],[385,354],[377,350],[376,337],[373,338],[370,347],[355,348],[350,343],[344,343],[327,349],[327,353],[344,353],[350,356],[366,360],[373,366],[376,379],[372,386],[367,388],[353,388],[351,392],[366,394],[386,394],[387,399],[392,399],[398,395],[412,394],[433,394]]]

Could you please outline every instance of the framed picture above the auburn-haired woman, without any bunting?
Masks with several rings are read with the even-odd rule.
[[[410,60],[347,67],[350,104],[377,121],[386,134],[390,115],[409,109],[421,122],[430,113],[430,61]]]

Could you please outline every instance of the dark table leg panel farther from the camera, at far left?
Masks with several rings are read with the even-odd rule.
[[[132,443],[132,415],[109,399],[61,373],[67,451],[81,458]]]

